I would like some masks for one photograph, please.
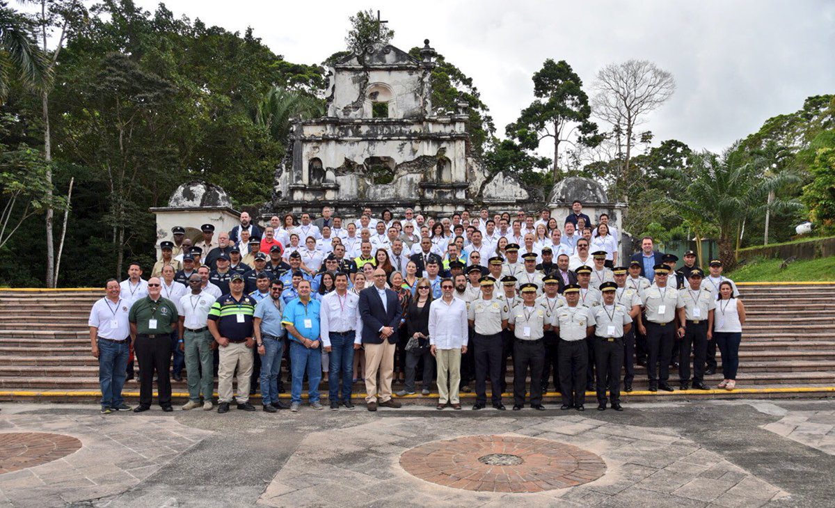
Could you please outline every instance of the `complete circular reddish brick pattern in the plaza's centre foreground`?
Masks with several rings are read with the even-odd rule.
[[[606,471],[598,455],[571,444],[506,435],[422,444],[404,451],[400,465],[421,480],[481,492],[564,489],[597,480]]]

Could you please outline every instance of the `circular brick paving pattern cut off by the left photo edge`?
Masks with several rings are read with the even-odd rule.
[[[46,464],[81,448],[81,441],[44,432],[0,433],[0,475]]]

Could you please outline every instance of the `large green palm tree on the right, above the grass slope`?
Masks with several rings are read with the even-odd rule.
[[[700,250],[708,227],[719,231],[719,257],[727,268],[736,264],[746,219],[762,211],[797,210],[801,206],[794,199],[774,197],[768,201],[770,193],[800,181],[797,175],[767,174],[762,159],[751,160],[737,149],[738,143],[721,156],[707,151],[694,154],[686,168],[672,170],[684,191],[668,198],[681,219],[690,224]]]

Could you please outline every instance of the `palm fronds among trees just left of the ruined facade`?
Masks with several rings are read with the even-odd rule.
[[[273,140],[283,143],[290,135],[293,120],[317,118],[324,114],[325,104],[321,99],[276,86],[261,99],[252,112],[252,119],[257,125],[270,130]]]

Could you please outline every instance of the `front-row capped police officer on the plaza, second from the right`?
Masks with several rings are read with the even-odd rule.
[[[559,392],[563,405],[559,409],[584,411],[586,363],[589,347],[585,338],[591,332],[589,307],[579,303],[579,285],[563,288],[565,305],[554,314],[554,328],[559,335]]]

